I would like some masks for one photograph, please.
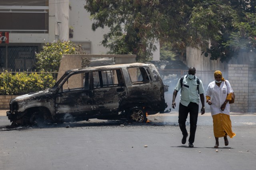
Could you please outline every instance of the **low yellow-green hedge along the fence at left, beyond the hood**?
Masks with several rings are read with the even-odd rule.
[[[50,73],[16,73],[0,74],[0,95],[21,95],[29,92],[45,90],[55,84],[54,77]]]

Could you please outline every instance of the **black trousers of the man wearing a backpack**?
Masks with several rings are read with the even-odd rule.
[[[188,131],[186,129],[186,119],[188,118],[188,113],[190,117],[190,136],[188,141],[194,143],[196,135],[196,123],[198,118],[198,104],[190,102],[188,106],[182,104],[179,105],[179,126],[182,131],[182,135],[187,135]]]

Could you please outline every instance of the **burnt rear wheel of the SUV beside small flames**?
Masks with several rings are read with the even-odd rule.
[[[128,121],[136,123],[147,122],[146,111],[142,107],[132,107],[128,113]]]

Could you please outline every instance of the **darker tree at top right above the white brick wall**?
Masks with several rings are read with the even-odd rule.
[[[206,21],[208,17],[216,18],[218,23],[210,25],[215,29],[214,34],[210,33],[210,48],[202,49],[203,52],[211,53],[212,60],[220,58],[220,61],[228,61],[231,57],[238,55],[239,51],[254,51],[256,47],[256,2],[250,0],[222,0],[215,5],[210,2],[209,8],[201,6],[198,11],[198,22]],[[203,10],[202,10],[203,9]],[[221,15],[219,15],[221,14]],[[195,20],[193,20],[195,21]],[[199,24],[198,24],[199,25]],[[200,26],[202,27],[202,25]],[[211,32],[211,29],[209,29]],[[214,36],[212,36],[214,35]],[[206,56],[208,55],[206,53]]]

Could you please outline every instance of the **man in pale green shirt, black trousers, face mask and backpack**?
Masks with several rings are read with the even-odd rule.
[[[201,80],[196,76],[196,68],[190,67],[188,69],[188,74],[181,77],[174,88],[172,96],[172,108],[176,107],[175,99],[178,91],[181,89],[180,93],[180,105],[179,105],[179,126],[182,131],[181,143],[185,144],[188,137],[188,131],[186,129],[186,119],[188,113],[190,115],[190,137],[188,139],[188,146],[194,147],[193,143],[196,134],[196,123],[198,118],[199,109],[199,96],[202,103],[201,114],[205,113],[204,107],[204,87]],[[198,96],[199,94],[199,96]]]

